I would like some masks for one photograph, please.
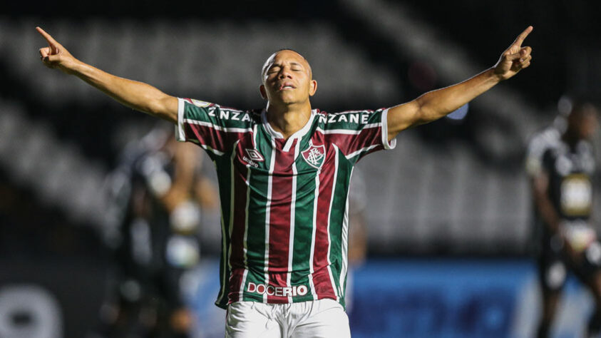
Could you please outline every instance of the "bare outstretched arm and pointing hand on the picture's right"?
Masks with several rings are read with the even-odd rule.
[[[522,47],[522,42],[533,30],[528,26],[501,54],[499,61],[486,71],[456,85],[430,91],[408,103],[390,108],[388,113],[388,138],[392,140],[406,128],[438,120],[455,111],[476,96],[488,91],[523,68],[530,66],[532,48]]]

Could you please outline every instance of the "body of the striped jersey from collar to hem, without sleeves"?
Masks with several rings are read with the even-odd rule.
[[[338,146],[317,120],[288,139],[257,124],[230,161],[230,299],[337,299],[352,169]]]

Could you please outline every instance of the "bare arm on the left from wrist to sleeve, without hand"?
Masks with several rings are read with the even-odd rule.
[[[70,73],[136,111],[173,123],[177,121],[177,98],[168,96],[153,86],[113,76],[81,61],[75,63]]]

